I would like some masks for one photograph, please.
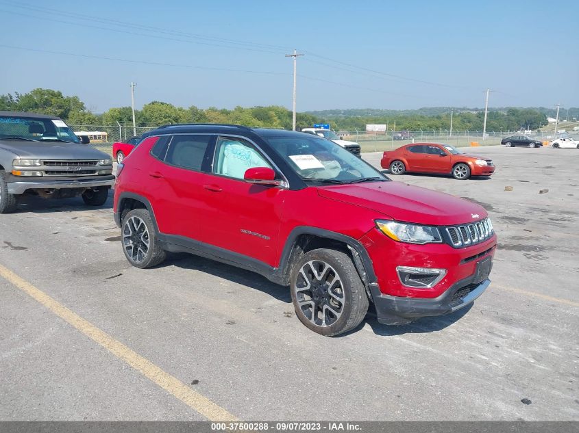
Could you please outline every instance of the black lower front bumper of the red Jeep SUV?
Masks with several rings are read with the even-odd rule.
[[[486,278],[478,283],[476,273],[461,280],[438,298],[403,298],[385,295],[377,285],[371,285],[370,290],[378,322],[386,325],[403,325],[419,317],[440,316],[465,308],[482,295],[491,280]]]

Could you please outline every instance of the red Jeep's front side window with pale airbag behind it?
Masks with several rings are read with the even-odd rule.
[[[215,146],[213,172],[223,176],[243,179],[245,170],[254,167],[269,167],[258,150],[240,138],[219,137]]]

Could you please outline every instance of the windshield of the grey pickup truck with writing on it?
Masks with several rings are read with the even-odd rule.
[[[0,116],[0,140],[23,138],[39,142],[61,140],[79,143],[79,138],[60,119]]]

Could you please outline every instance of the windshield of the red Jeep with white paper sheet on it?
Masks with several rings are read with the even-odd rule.
[[[321,137],[268,137],[267,142],[304,181],[358,183],[389,179],[345,148]]]

